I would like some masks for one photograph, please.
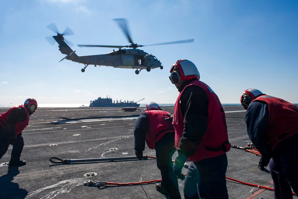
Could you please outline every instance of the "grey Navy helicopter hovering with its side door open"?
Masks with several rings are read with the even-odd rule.
[[[66,56],[61,59],[60,61],[64,59],[68,59],[74,62],[82,63],[85,65],[84,68],[82,68],[82,72],[85,72],[85,69],[89,65],[96,66],[111,66],[114,68],[131,68],[136,69],[135,73],[139,74],[141,70],[146,69],[148,72],[151,69],[160,68],[163,69],[162,63],[152,54],[148,54],[144,52],[144,50],[138,49],[138,47],[144,47],[144,46],[154,46],[154,45],[167,45],[167,44],[179,44],[179,43],[189,43],[193,42],[194,39],[188,39],[188,40],[181,40],[181,41],[172,41],[172,42],[166,42],[166,43],[159,43],[159,44],[150,44],[150,45],[138,45],[135,44],[128,31],[128,26],[125,18],[116,18],[114,19],[120,29],[122,29],[123,33],[128,39],[128,42],[130,45],[125,46],[112,46],[112,45],[77,45],[79,47],[108,47],[108,48],[118,48],[118,50],[113,50],[113,52],[102,54],[102,55],[85,55],[85,56],[78,56],[73,51],[67,43],[70,43],[64,39],[64,36],[66,35],[73,35],[73,31],[66,27],[66,30],[64,33],[59,33],[58,29],[55,25],[55,23],[49,24],[47,26],[48,29],[55,32],[57,35],[52,36],[55,41],[59,44],[59,50],[62,54],[65,54]],[[49,41],[49,38],[46,37],[46,39]],[[66,41],[66,42],[65,42]],[[49,41],[50,42],[50,41]],[[51,43],[51,42],[50,42]],[[123,49],[124,47],[129,49]],[[59,61],[59,62],[60,62]]]

